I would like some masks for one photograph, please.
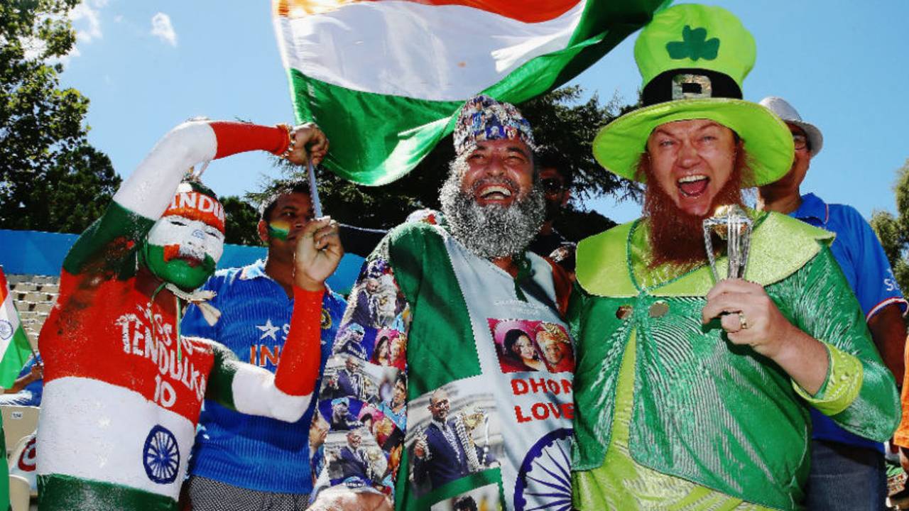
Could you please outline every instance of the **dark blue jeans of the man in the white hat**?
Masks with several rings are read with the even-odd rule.
[[[880,511],[887,497],[884,455],[866,447],[812,440],[808,509]]]

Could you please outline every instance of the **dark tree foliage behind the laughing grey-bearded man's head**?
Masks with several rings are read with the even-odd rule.
[[[604,105],[596,95],[582,101],[583,95],[581,87],[574,85],[518,105],[534,126],[536,144],[559,153],[574,171],[572,204],[555,222],[559,232],[569,239],[580,239],[614,225],[603,215],[585,210],[582,200],[605,194],[625,198],[634,196],[637,190],[629,181],[598,165],[591,148],[597,130],[618,115],[617,102]],[[355,185],[320,169],[316,175],[325,214],[345,224],[389,229],[402,223],[416,209],[438,209],[439,188],[453,159],[454,147],[449,135],[410,174],[389,185]],[[285,176],[265,182],[262,192],[247,195],[254,204],[278,185],[305,179],[305,171],[299,168],[280,160],[275,165],[282,167]]]

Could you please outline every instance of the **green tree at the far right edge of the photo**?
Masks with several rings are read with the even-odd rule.
[[[894,268],[896,282],[905,293],[909,290],[909,159],[896,171],[894,193],[897,215],[874,211],[871,227]]]

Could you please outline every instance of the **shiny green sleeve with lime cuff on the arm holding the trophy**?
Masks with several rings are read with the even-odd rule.
[[[829,346],[827,381],[820,396],[814,396],[814,405],[856,435],[881,442],[890,438],[900,421],[894,376],[878,355],[862,309],[830,248],[824,245],[776,287],[785,295],[776,300],[778,306],[785,304],[784,315]]]

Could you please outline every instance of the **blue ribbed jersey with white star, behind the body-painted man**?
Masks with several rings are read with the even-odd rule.
[[[181,333],[201,336],[229,347],[244,362],[275,372],[290,330],[294,300],[265,274],[265,262],[219,270],[203,286],[217,293],[210,302],[221,311],[215,326],[190,306]],[[322,302],[322,353],[319,379],[345,310],[342,296],[328,291]],[[315,384],[320,388],[320,383]],[[317,399],[295,423],[247,416],[205,400],[190,460],[191,476],[271,493],[308,494],[309,426]]]

